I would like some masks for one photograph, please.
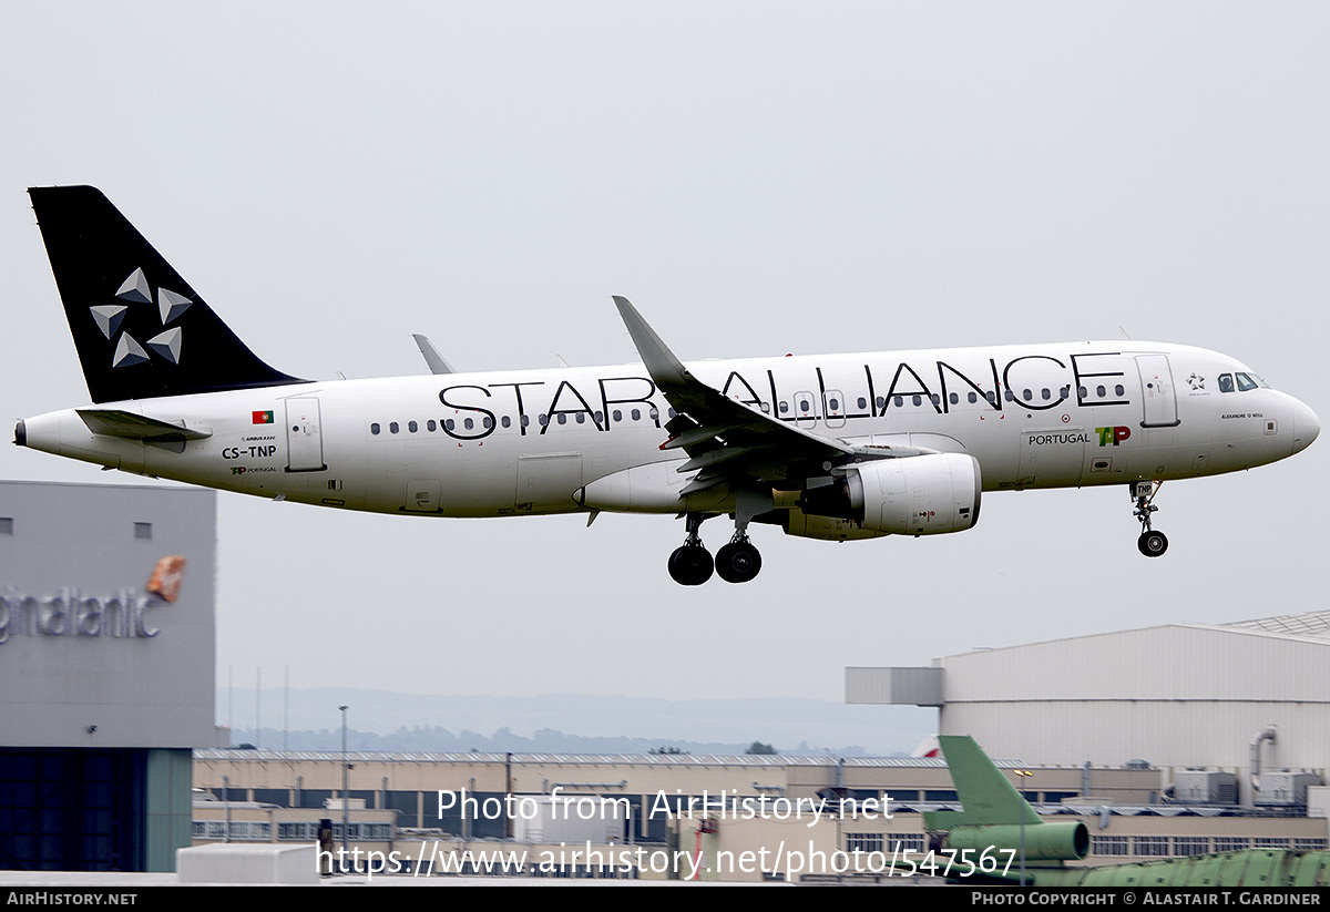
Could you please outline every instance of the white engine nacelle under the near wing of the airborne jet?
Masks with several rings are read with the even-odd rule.
[[[849,465],[843,481],[805,491],[799,509],[879,534],[940,534],[979,521],[980,489],[974,456],[926,453]]]

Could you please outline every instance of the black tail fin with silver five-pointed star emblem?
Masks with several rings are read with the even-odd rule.
[[[28,195],[93,401],[301,383],[261,362],[100,190]]]

